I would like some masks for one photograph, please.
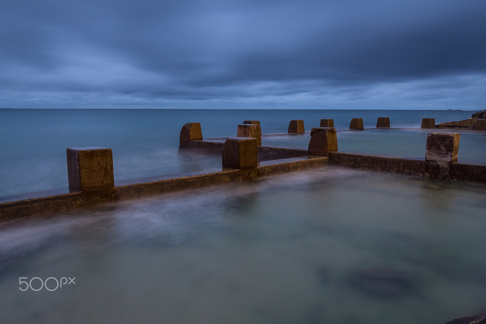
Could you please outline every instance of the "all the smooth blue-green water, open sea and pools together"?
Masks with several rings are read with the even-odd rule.
[[[208,138],[236,136],[245,119],[268,134],[290,119],[306,130],[321,118],[347,129],[353,117],[417,128],[470,114],[0,109],[0,195],[67,187],[67,147],[112,148],[115,180],[220,166],[177,153],[189,121]],[[427,133],[343,130],[338,145],[424,157]],[[461,132],[459,159],[486,162],[485,142]],[[484,185],[323,167],[3,222],[0,323],[442,324],[486,311],[485,209]],[[20,291],[19,277],[76,279]]]

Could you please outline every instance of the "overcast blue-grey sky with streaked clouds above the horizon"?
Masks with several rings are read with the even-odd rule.
[[[0,107],[486,108],[486,0],[1,0]]]

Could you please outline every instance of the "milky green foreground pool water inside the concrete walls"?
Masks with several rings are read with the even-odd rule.
[[[445,323],[485,311],[485,193],[326,167],[4,223],[0,323]]]

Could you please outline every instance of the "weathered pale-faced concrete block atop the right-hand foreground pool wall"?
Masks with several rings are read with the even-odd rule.
[[[427,135],[425,159],[436,162],[457,161],[460,136],[460,133],[429,133]]]

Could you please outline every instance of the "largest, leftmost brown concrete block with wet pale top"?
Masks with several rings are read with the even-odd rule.
[[[69,188],[99,190],[115,187],[113,153],[100,146],[72,147],[66,150]]]

